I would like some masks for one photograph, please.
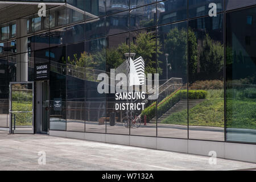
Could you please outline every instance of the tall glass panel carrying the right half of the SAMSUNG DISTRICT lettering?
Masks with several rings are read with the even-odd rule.
[[[135,55],[134,55],[135,53]],[[134,85],[134,88],[136,86],[139,86],[139,90],[134,89],[134,93],[141,94],[143,90],[141,90],[142,86],[147,83],[147,86],[150,85],[148,82],[149,79],[152,80],[151,86],[154,85],[154,89],[148,89],[147,87],[147,93],[150,93],[154,90],[154,93],[156,94],[157,86],[155,84],[155,81],[157,81],[157,78],[155,77],[154,73],[156,72],[157,67],[157,60],[156,60],[156,29],[147,29],[147,30],[141,30],[141,31],[134,31],[130,32],[130,64],[133,60],[133,63],[135,65],[135,71],[138,74],[138,80],[139,82],[130,82],[129,86]],[[140,68],[141,67],[141,68]],[[147,76],[147,80],[144,80],[141,78],[143,76],[143,69],[144,74]],[[160,67],[157,67],[158,70],[160,70]],[[130,72],[133,73],[133,68],[130,67]],[[140,75],[140,73],[142,75]],[[152,76],[150,77],[148,73],[151,73]],[[137,75],[135,75],[137,76]],[[136,79],[136,78],[135,78]],[[144,80],[144,81],[143,81]],[[147,82],[146,82],[147,81]],[[132,107],[130,109],[130,134],[131,135],[143,135],[143,136],[154,136],[156,137],[156,123],[150,122],[152,118],[156,115],[156,107],[152,106],[155,105],[156,99],[148,99],[150,97],[149,94],[145,93],[145,96],[141,95],[141,98],[138,96],[134,97],[131,102],[131,104],[136,104],[137,106],[141,107]],[[146,103],[144,105],[144,110],[142,103]],[[131,108],[131,107],[130,107]],[[139,120],[137,117],[141,115],[141,124],[139,124]],[[146,116],[146,118],[144,118]],[[146,120],[146,123],[145,123]],[[138,125],[137,125],[138,121]]]

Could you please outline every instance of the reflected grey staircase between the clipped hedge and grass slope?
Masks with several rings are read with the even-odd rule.
[[[196,106],[197,104],[200,104],[203,101],[204,99],[188,100],[188,102],[187,100],[180,100],[179,102],[177,102],[177,104],[172,106],[171,109],[169,109],[166,113],[164,113],[161,117],[158,118],[158,123],[162,122],[163,119],[167,118],[171,114],[187,109],[188,105],[189,105],[189,109],[191,109],[192,107]],[[154,117],[150,121],[150,123],[155,123],[155,122],[156,122],[156,117]]]

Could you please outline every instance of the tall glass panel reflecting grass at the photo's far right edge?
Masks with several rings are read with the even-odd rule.
[[[226,140],[256,143],[256,8],[226,14]]]

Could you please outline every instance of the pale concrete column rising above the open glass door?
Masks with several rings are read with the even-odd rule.
[[[16,30],[21,35],[26,35],[25,31],[27,31],[27,20],[20,19],[20,21],[17,21]],[[27,38],[17,39],[16,46],[17,52],[20,53],[16,56],[16,81],[28,81]]]

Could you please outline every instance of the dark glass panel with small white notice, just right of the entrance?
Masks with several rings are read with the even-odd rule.
[[[50,57],[50,129],[66,130],[66,47],[51,48]],[[54,107],[55,101],[61,101],[61,109]]]

